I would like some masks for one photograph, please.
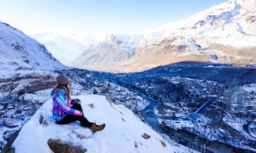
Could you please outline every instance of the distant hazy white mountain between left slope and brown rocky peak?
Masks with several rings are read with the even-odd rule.
[[[35,40],[46,45],[50,53],[65,65],[70,65],[85,49],[99,41],[94,37],[72,34],[63,37],[56,33],[37,33],[31,35]]]

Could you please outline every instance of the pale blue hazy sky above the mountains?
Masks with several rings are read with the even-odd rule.
[[[0,22],[26,34],[105,37],[154,29],[226,0],[0,0]]]

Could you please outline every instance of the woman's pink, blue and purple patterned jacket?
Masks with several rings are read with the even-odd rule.
[[[69,100],[66,88],[56,88],[54,91],[50,92],[50,96],[53,97],[52,112],[56,122],[62,120],[67,114],[82,116],[82,112],[70,108],[70,104],[77,104],[78,99]]]

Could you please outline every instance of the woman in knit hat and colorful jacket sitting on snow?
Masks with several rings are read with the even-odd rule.
[[[105,124],[97,125],[90,123],[83,116],[81,101],[78,99],[71,100],[69,80],[64,75],[57,77],[57,86],[50,95],[53,97],[53,117],[56,124],[70,124],[79,121],[82,127],[90,128],[92,131],[102,131]]]

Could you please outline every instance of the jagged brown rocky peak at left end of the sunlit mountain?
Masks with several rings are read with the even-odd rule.
[[[130,39],[132,39],[132,37]],[[126,61],[133,56],[133,43],[122,40],[121,37],[110,35],[110,37],[106,37],[105,41],[86,49],[71,65],[86,65],[86,67],[91,68],[97,66],[104,69],[106,65],[114,66],[116,63]],[[97,63],[97,65],[95,65],[95,63]]]

